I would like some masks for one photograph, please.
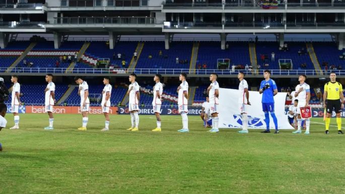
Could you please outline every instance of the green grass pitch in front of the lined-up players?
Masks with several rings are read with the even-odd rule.
[[[13,115],[7,114],[8,128]],[[20,130],[0,132],[0,193],[345,193],[345,135],[335,119],[325,135],[322,118],[312,118],[311,134],[207,133],[189,116],[188,134],[179,134],[180,116],[140,116],[140,131],[128,132],[129,115],[21,114]],[[345,123],[345,120],[343,120]]]

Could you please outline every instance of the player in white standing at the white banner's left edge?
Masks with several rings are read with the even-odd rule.
[[[218,75],[216,73],[212,73],[210,75],[210,81],[212,82],[207,89],[207,93],[209,94],[210,100],[210,113],[212,115],[212,130],[211,133],[218,133],[218,107],[219,106],[219,84],[217,82]]]

